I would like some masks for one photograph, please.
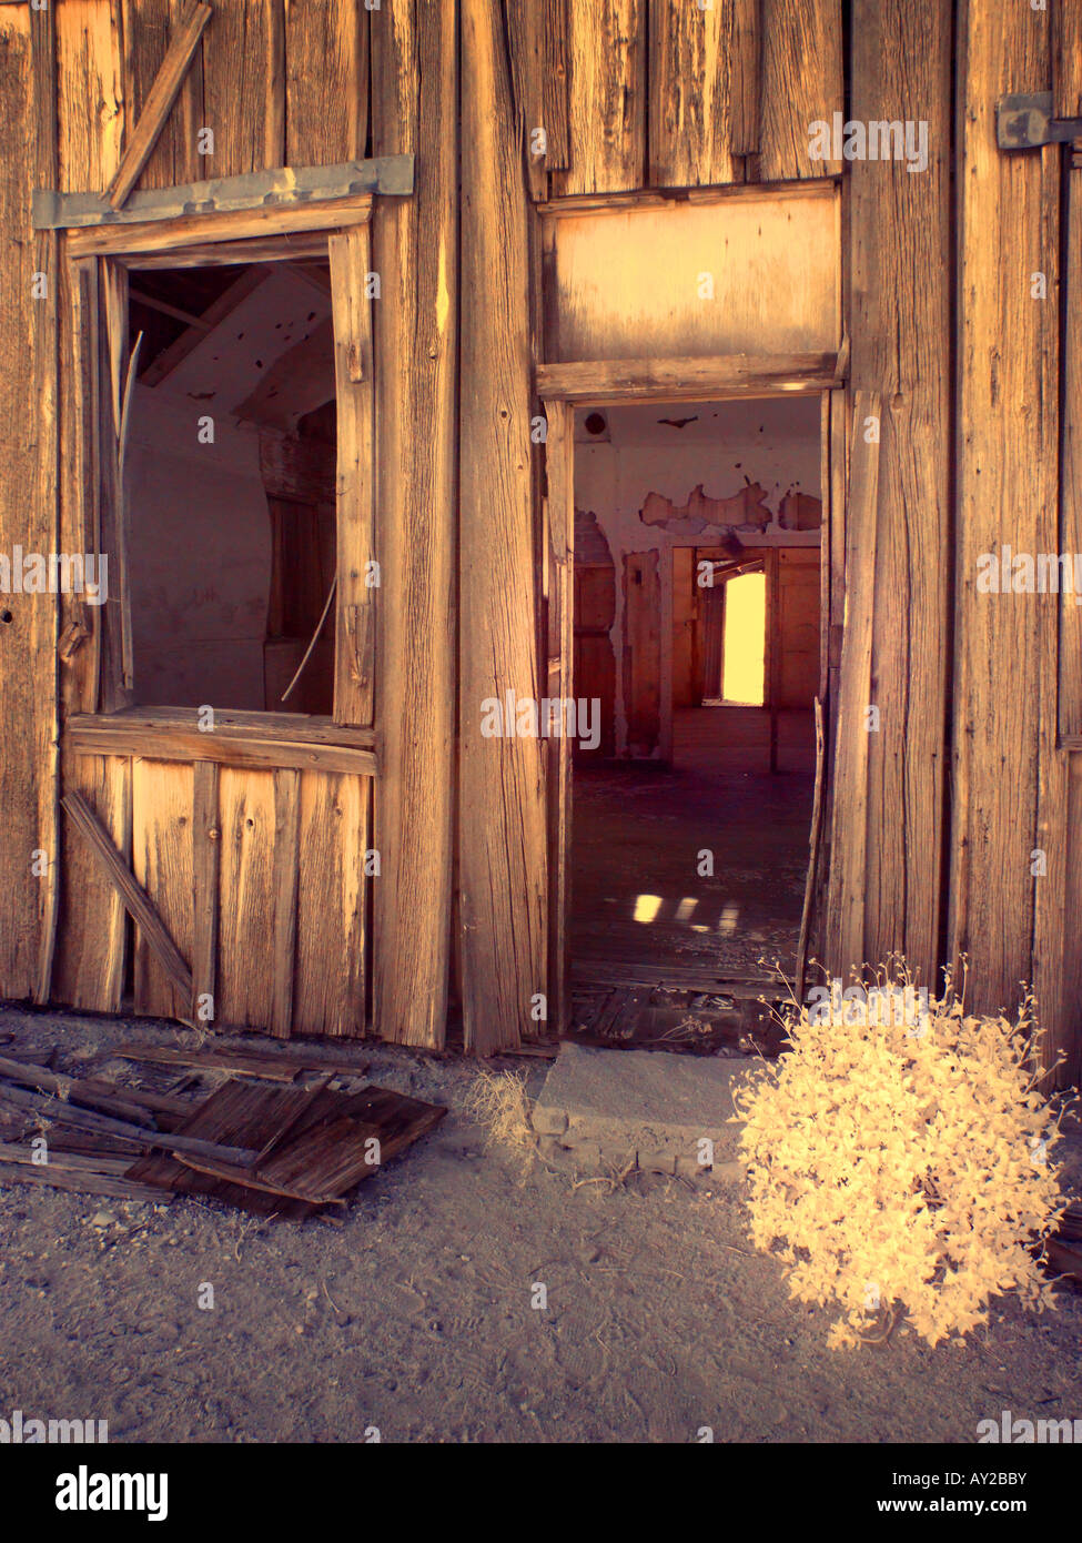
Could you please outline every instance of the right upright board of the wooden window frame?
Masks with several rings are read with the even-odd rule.
[[[329,241],[338,401],[338,591],[335,722],[372,724],[375,701],[375,551],[372,506],[372,312],[367,299],[369,228]]]

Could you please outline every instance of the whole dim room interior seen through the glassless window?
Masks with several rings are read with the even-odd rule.
[[[134,701],[329,714],[327,262],[133,270],[128,298]]]

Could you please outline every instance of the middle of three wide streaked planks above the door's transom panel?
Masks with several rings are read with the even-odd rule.
[[[732,143],[736,0],[648,0],[650,185],[739,182]],[[742,151],[741,151],[742,154]]]

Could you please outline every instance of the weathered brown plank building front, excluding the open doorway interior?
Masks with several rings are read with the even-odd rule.
[[[1031,981],[1077,1075],[1082,611],[1016,557],[1082,552],[1080,113],[1082,0],[5,0],[3,995],[551,1034],[568,741],[483,725],[610,625],[579,409],[800,403],[820,952]]]

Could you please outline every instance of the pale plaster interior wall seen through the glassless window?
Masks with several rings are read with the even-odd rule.
[[[159,386],[134,389],[125,488],[140,705],[264,707],[270,512],[256,424],[233,409],[329,313],[329,296],[275,264]],[[205,417],[213,443],[199,438]]]

